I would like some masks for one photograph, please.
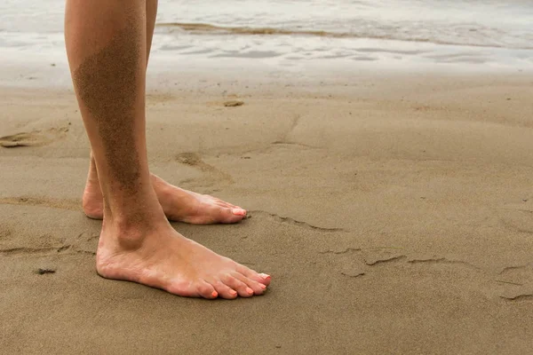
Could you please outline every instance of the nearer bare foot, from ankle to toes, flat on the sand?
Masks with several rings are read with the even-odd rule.
[[[262,295],[270,276],[259,274],[177,233],[168,222],[140,231],[104,220],[96,256],[107,279],[129,280],[187,297]]]

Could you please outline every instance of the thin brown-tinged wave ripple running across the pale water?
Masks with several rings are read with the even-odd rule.
[[[184,31],[193,33],[195,35],[243,35],[243,36],[317,36],[317,37],[331,37],[331,38],[370,38],[370,39],[382,39],[404,42],[417,42],[417,43],[434,43],[445,45],[461,45],[471,47],[483,47],[483,48],[508,48],[505,45],[496,43],[483,44],[483,43],[461,43],[452,41],[442,41],[431,38],[406,38],[404,36],[391,36],[391,35],[371,35],[364,34],[358,35],[355,33],[347,32],[330,32],[322,30],[308,30],[308,29],[284,29],[284,28],[250,28],[250,27],[224,27],[216,26],[208,23],[186,23],[186,22],[163,22],[155,25],[157,28],[179,28]],[[533,46],[521,46],[520,48],[514,47],[513,49],[521,50],[533,50]]]

